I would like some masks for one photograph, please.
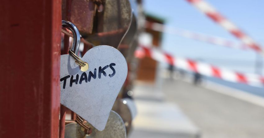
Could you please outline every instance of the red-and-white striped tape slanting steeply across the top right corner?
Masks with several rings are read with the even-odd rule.
[[[216,11],[214,7],[203,0],[187,0],[195,7],[197,7],[201,12],[206,14],[209,18],[215,21],[217,24],[221,25],[225,30],[229,31],[235,37],[240,39],[244,44],[248,45],[255,51],[264,54],[263,49],[257,44],[251,37],[242,32],[237,26],[235,26],[231,21],[227,20],[219,12]]]

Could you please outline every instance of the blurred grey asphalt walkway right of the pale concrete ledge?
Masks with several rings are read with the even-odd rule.
[[[180,80],[164,79],[162,85],[165,98],[179,105],[202,138],[263,138],[263,106]]]

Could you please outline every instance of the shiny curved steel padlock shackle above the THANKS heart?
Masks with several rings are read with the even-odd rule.
[[[62,20],[62,26],[71,30],[71,32],[73,34],[73,44],[72,44],[71,50],[73,51],[73,53],[75,53],[75,55],[78,55],[79,46],[80,46],[80,39],[81,39],[79,30],[77,29],[77,27],[73,23],[71,23],[69,21]]]

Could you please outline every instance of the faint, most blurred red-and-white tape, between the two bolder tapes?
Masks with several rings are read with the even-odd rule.
[[[189,30],[183,30],[168,25],[163,25],[160,23],[146,21],[145,28],[159,32],[175,34],[184,38],[194,39],[202,42],[207,42],[210,44],[221,45],[230,48],[244,49],[244,50],[249,49],[246,44],[236,43],[234,41],[230,41],[221,37],[192,32]]]

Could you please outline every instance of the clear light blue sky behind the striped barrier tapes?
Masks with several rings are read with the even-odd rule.
[[[259,44],[264,45],[264,1],[207,0]],[[143,0],[147,13],[163,18],[166,25],[211,34],[240,42],[185,0]],[[202,59],[204,62],[232,70],[254,73],[256,53],[226,48],[173,34],[163,34],[162,48],[175,56]]]

